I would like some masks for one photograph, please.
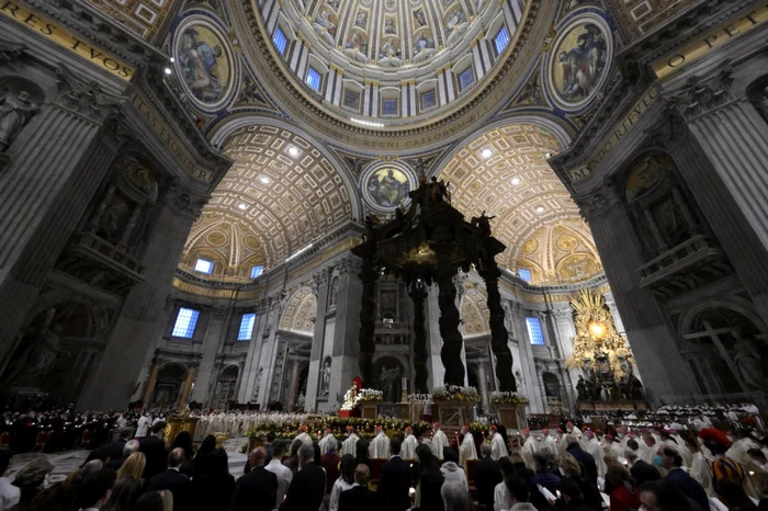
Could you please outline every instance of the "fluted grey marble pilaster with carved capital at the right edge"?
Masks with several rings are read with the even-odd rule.
[[[744,118],[736,129],[732,125],[738,115]],[[768,225],[761,224],[768,214],[761,195],[768,190],[761,171],[768,161],[764,159],[768,127],[761,118],[753,118],[756,115],[745,101],[725,103],[691,116],[690,132],[668,140],[667,148],[760,317],[768,322]],[[713,126],[719,122],[729,128]],[[743,134],[750,126],[754,132]]]

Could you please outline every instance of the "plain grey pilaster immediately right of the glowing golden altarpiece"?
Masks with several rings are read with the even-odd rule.
[[[667,318],[653,294],[640,287],[637,269],[645,260],[614,185],[602,183],[588,198],[577,197],[577,202],[591,228],[650,400],[658,402],[667,396],[669,401],[698,394]]]

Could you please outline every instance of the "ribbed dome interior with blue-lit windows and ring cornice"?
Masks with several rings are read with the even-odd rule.
[[[341,147],[402,155],[459,138],[502,107],[554,5],[261,0],[252,9],[240,44],[273,100]]]

